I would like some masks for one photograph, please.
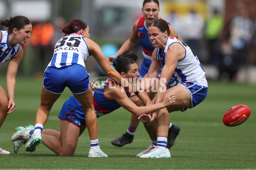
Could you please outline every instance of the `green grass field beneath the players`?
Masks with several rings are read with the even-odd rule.
[[[4,81],[1,85],[5,88]],[[256,169],[256,85],[209,82],[204,102],[184,113],[171,113],[171,122],[179,125],[181,132],[170,149],[170,159],[136,157],[151,143],[142,124],[131,144],[124,147],[111,144],[125,133],[129,124],[130,113],[122,108],[98,119],[99,144],[108,158],[87,157],[90,149],[87,130],[79,138],[73,157],[56,156],[44,144],[33,153],[26,152],[23,146],[19,153],[14,153],[10,141],[12,133],[17,126],[34,125],[41,86],[41,81],[17,77],[16,108],[0,128],[1,147],[11,155],[0,155],[0,169]],[[66,89],[52,108],[44,128],[59,130],[58,112],[69,95]],[[250,107],[249,119],[237,127],[225,126],[222,123],[224,113],[239,104]]]

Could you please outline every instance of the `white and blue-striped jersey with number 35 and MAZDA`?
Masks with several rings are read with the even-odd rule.
[[[48,67],[61,68],[67,65],[79,64],[85,68],[84,62],[89,56],[90,53],[84,41],[84,36],[73,33],[62,37],[55,44],[54,54]]]

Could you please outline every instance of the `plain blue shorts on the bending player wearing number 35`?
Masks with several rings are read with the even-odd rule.
[[[44,88],[54,94],[61,94],[68,87],[73,94],[82,94],[90,87],[90,74],[82,65],[47,67],[43,78]]]

